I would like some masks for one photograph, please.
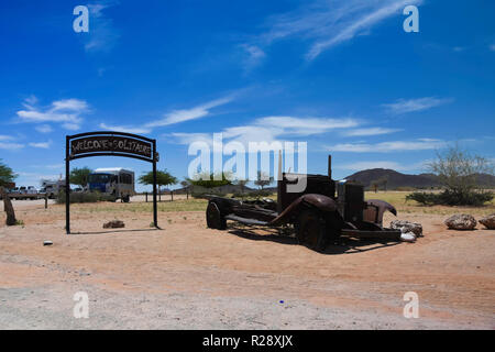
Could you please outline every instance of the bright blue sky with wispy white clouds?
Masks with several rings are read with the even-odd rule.
[[[76,6],[90,10],[76,33]],[[406,33],[403,9],[419,9]],[[308,172],[425,172],[452,142],[495,156],[493,1],[2,1],[0,158],[19,185],[63,173],[65,135],[306,141]],[[150,165],[87,158],[77,166]]]

